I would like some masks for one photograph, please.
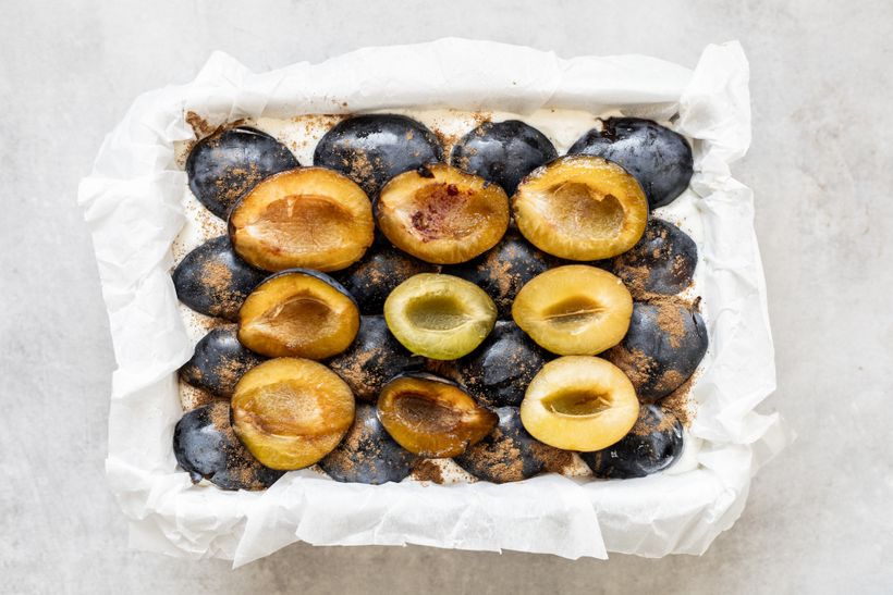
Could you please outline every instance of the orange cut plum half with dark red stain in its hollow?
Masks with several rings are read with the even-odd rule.
[[[435,264],[456,264],[502,238],[509,227],[509,197],[480,176],[435,163],[386,184],[376,219],[404,252]]]

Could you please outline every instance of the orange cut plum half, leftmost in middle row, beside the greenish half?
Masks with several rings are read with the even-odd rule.
[[[351,295],[325,273],[291,269],[257,286],[238,312],[238,340],[258,354],[326,359],[359,330]]]

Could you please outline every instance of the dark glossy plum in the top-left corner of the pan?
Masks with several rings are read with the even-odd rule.
[[[272,136],[240,126],[196,142],[186,159],[186,174],[198,201],[227,219],[235,201],[258,182],[299,165],[288,147]]]

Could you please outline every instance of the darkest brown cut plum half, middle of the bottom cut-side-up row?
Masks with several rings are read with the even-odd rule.
[[[490,433],[498,418],[456,384],[432,374],[408,373],[381,389],[378,419],[409,453],[441,458],[464,453]]]

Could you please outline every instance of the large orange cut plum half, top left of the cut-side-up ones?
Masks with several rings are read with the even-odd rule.
[[[230,238],[238,255],[267,271],[337,271],[359,260],[375,236],[369,197],[323,168],[279,173],[233,207]]]

